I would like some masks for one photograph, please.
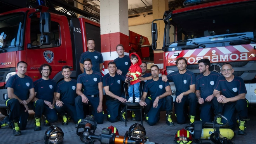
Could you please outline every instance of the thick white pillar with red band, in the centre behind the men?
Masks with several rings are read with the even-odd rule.
[[[108,62],[118,57],[116,46],[124,45],[129,55],[128,1],[101,0],[101,53],[104,64],[102,73],[108,73]]]

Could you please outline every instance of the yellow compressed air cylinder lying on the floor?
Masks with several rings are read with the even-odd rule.
[[[233,130],[229,128],[220,128],[219,132],[223,137],[226,137],[227,139],[232,139],[235,135]],[[201,139],[210,139],[212,133],[214,133],[213,128],[203,128]]]

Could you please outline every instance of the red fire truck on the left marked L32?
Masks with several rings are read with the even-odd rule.
[[[26,3],[27,0],[22,1]],[[54,1],[57,0],[51,2]],[[14,0],[9,3],[15,5]],[[16,4],[19,3],[21,0],[17,0]],[[3,4],[0,2],[1,7]],[[59,82],[63,79],[61,68],[64,65],[70,66],[72,78],[82,73],[79,59],[87,50],[88,38],[94,38],[95,49],[101,52],[99,22],[84,16],[71,17],[69,21],[66,16],[47,10],[48,7],[40,6],[14,9],[0,14],[0,113],[3,115],[8,115],[9,112],[5,106],[5,99],[8,97],[5,84],[10,76],[17,73],[17,62],[27,62],[26,75],[34,81],[41,77],[38,72],[40,65],[49,63],[52,66],[50,78]],[[137,52],[141,59],[149,60],[148,45],[148,38],[129,31],[130,52]]]

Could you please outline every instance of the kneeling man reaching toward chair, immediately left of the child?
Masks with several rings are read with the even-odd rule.
[[[108,63],[109,73],[103,76],[103,88],[106,92],[106,106],[108,111],[108,120],[113,123],[118,121],[118,110],[121,103],[127,102],[124,92],[122,92],[122,81],[128,80],[116,74],[117,67],[115,62]],[[125,110],[120,112],[120,120],[125,121]]]

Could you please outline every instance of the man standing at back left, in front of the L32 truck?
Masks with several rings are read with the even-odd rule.
[[[88,51],[84,52],[80,56],[80,70],[82,73],[85,72],[84,69],[84,61],[85,59],[91,59],[92,61],[92,70],[97,71],[101,73],[102,68],[103,68],[103,56],[100,52],[95,50],[95,41],[92,38],[89,38],[87,41],[87,47]]]

